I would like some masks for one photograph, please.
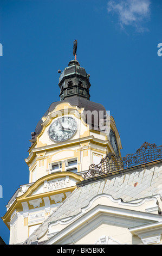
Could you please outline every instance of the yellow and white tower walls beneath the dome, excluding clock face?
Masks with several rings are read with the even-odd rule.
[[[113,151],[105,132],[89,129],[82,118],[83,108],[68,102],[58,104],[42,118],[42,131],[29,149],[25,162],[29,167],[29,187],[21,188],[9,202],[3,221],[10,229],[10,244],[22,243],[83,180],[90,164],[99,163]],[[77,123],[74,136],[54,142],[49,138],[50,124],[59,117],[73,117]],[[116,129],[111,117],[113,129]],[[117,133],[118,134],[118,133]],[[117,138],[120,144],[120,137]],[[70,163],[73,163],[70,166]],[[13,199],[12,198],[12,199]],[[21,234],[21,235],[20,235]]]

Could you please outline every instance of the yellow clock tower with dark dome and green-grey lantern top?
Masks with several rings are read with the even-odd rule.
[[[109,152],[120,155],[113,117],[90,101],[89,76],[75,51],[75,59],[60,74],[60,101],[51,103],[31,132],[25,159],[29,183],[18,188],[3,216],[10,244],[23,243],[47,221],[84,179],[90,164],[98,164]]]

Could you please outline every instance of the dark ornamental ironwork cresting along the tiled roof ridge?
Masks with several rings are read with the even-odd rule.
[[[134,154],[127,154],[125,157],[108,153],[99,164],[91,164],[84,176],[85,179],[94,178],[158,159],[162,159],[162,145],[157,147],[156,144],[145,142]]]

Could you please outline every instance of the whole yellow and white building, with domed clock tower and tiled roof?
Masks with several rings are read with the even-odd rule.
[[[119,132],[105,108],[89,100],[89,75],[76,59],[59,87],[61,101],[31,134],[29,183],[18,188],[2,217],[10,244],[161,243],[161,160],[86,180],[88,170],[103,168],[108,153],[121,157]]]

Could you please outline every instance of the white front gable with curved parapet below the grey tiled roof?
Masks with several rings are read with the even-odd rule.
[[[114,233],[124,233],[131,239],[132,234],[129,229],[133,227],[145,227],[145,225],[156,225],[161,222],[162,216],[148,214],[139,209],[146,209],[154,205],[155,199],[141,199],[133,203],[124,203],[120,199],[113,199],[108,195],[99,195],[89,202],[76,216],[49,223],[48,240],[45,244],[81,244],[89,240],[87,244],[101,242],[100,237],[107,237],[107,244],[126,243],[120,239],[115,239]],[[102,229],[102,233],[100,233]],[[108,230],[111,230],[108,233]],[[99,235],[100,236],[96,236]],[[93,242],[92,242],[92,238]],[[111,237],[111,239],[108,239]],[[139,239],[141,242],[141,240]]]

